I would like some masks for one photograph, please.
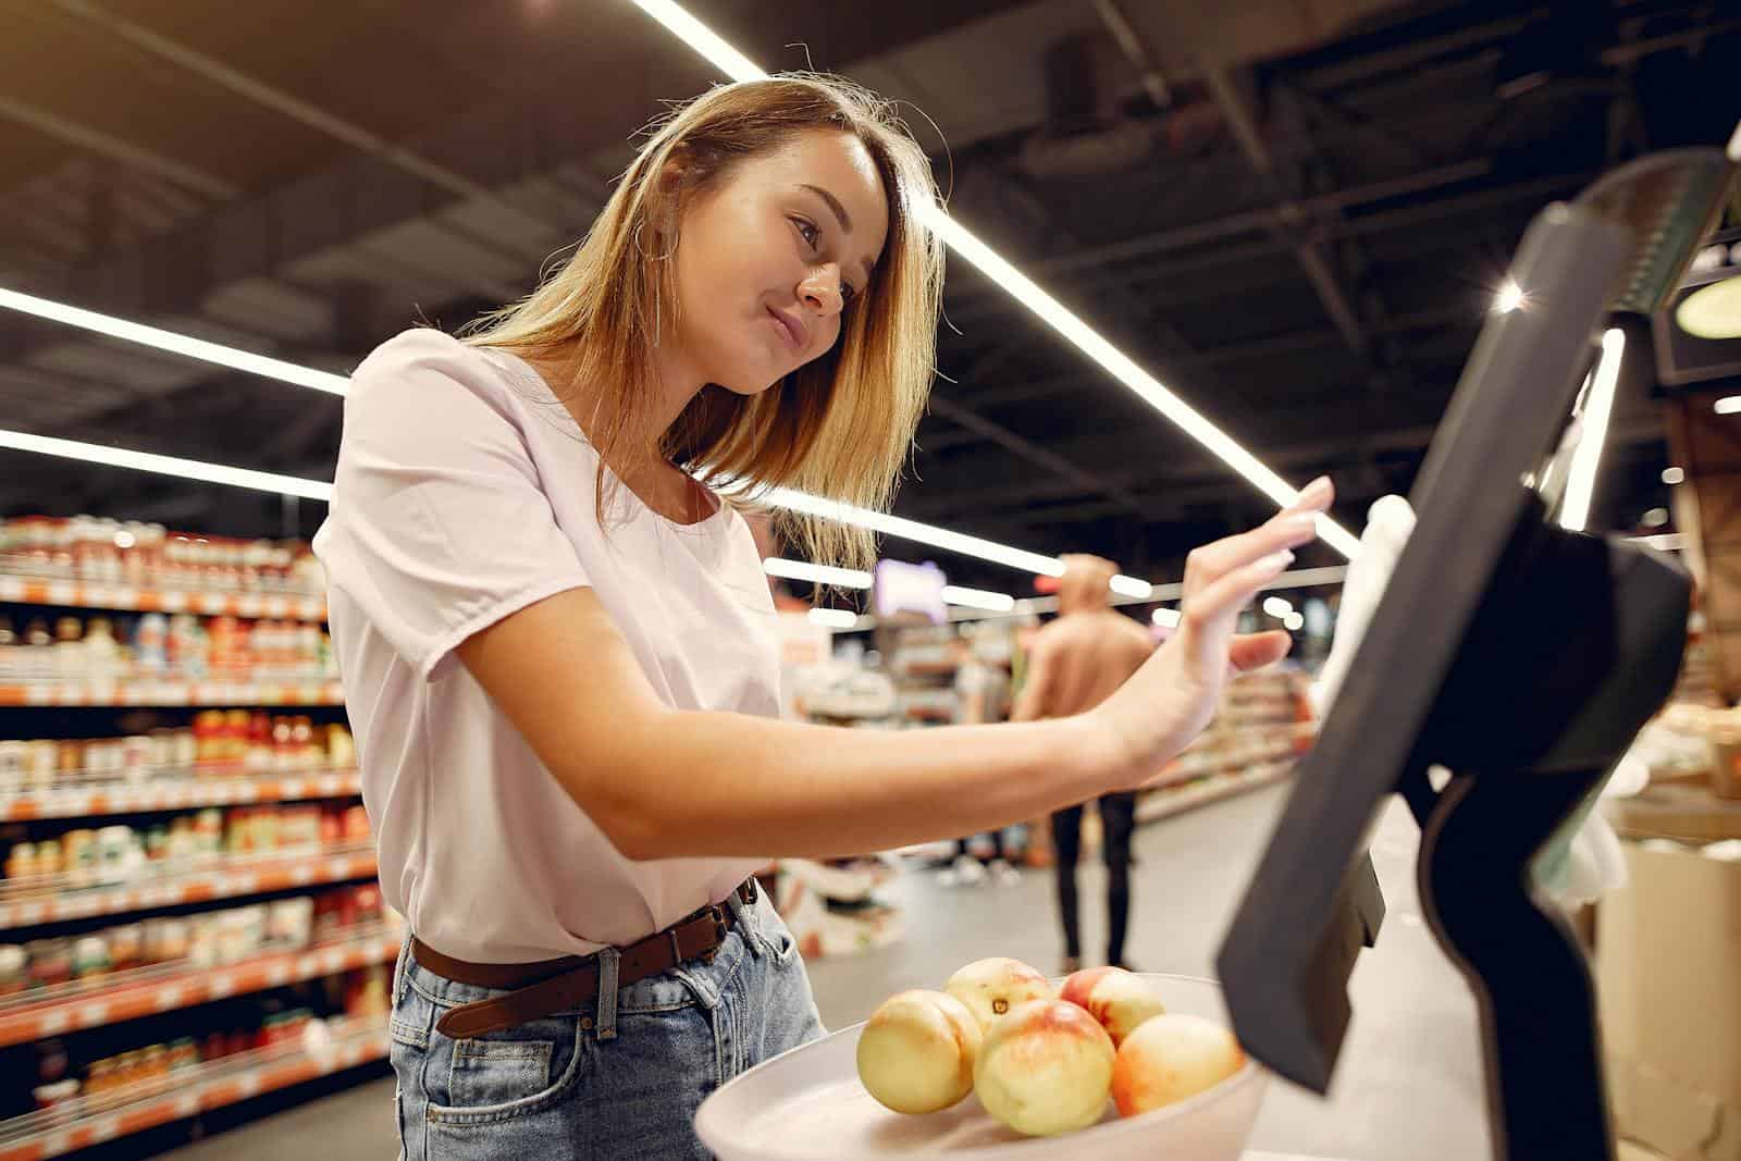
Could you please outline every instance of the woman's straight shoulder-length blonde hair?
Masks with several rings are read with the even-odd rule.
[[[841,320],[839,341],[759,395],[705,386],[656,449],[629,447],[646,428],[660,331],[677,312],[676,263],[665,259],[681,244],[682,211],[738,162],[815,129],[848,132],[865,146],[890,214],[883,256]],[[655,451],[709,486],[749,484],[750,496],[792,487],[886,510],[935,367],[944,252],[919,221],[935,202],[924,150],[891,101],[820,75],[721,85],[656,127],[575,256],[531,296],[479,320],[467,341],[568,355],[568,381],[599,392],[588,439],[606,463],[616,453]],[[602,472],[597,500],[602,522]],[[787,510],[773,522],[813,560],[867,566],[876,557],[865,529]]]

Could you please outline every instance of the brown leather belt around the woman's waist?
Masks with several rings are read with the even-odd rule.
[[[756,879],[749,877],[736,888],[745,905],[756,902]],[[670,971],[689,959],[712,963],[726,931],[736,923],[726,902],[712,903],[663,931],[620,949],[616,985]],[[453,1039],[467,1039],[512,1029],[528,1020],[569,1011],[599,994],[599,957],[564,956],[531,964],[474,964],[439,950],[423,940],[411,938],[411,956],[444,980],[475,987],[514,989],[507,996],[460,1004],[435,1022],[435,1030]]]

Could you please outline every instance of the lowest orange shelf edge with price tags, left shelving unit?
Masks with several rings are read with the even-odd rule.
[[[275,1044],[0,1123],[0,1161],[44,1161],[387,1057],[387,1022],[345,1020],[322,1046]]]

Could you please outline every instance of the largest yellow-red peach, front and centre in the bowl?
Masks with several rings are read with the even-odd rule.
[[[1112,1039],[1086,1011],[1062,999],[1031,999],[991,1025],[973,1093],[1018,1133],[1069,1133],[1106,1112],[1114,1058]]]

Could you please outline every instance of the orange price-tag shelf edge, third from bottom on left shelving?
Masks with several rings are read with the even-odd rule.
[[[165,876],[155,882],[127,882],[89,889],[44,889],[40,896],[0,902],[0,929],[31,928],[129,910],[205,903],[240,895],[265,895],[320,882],[348,882],[376,874],[374,849],[367,844],[301,853],[270,853],[247,858],[214,858],[209,865]],[[56,876],[64,877],[64,876]],[[3,881],[0,881],[3,886]]]

